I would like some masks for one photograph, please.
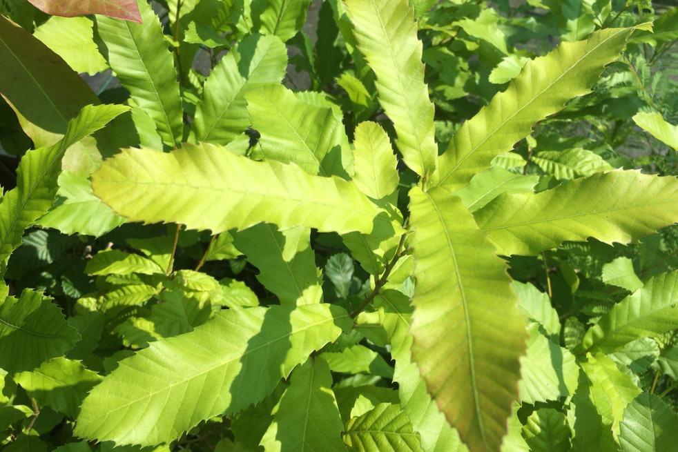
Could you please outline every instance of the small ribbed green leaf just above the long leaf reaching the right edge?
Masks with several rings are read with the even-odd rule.
[[[582,148],[567,150],[542,150],[532,156],[532,161],[556,179],[574,179],[613,170],[600,155]]]

